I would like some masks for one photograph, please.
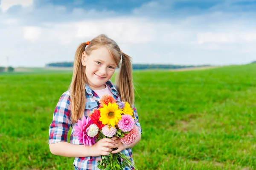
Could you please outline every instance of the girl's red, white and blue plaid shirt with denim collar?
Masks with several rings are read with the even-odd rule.
[[[107,86],[113,93],[113,97],[120,101],[119,95],[117,94],[117,90],[115,86],[112,84],[111,81],[106,82]],[[99,96],[90,89],[89,86],[86,85],[85,87],[86,91],[86,106],[84,110],[84,116],[90,115],[94,109],[99,108]],[[137,127],[139,128],[140,134],[142,133],[140,123],[138,120],[138,114],[135,107],[134,109],[134,115],[135,115],[135,123]],[[67,142],[67,133],[70,129],[70,126],[72,128],[71,136],[70,136],[70,143],[71,144],[79,144],[79,140],[77,139],[77,136],[74,135],[74,127],[76,126],[76,123],[72,124],[71,119],[71,103],[70,103],[70,92],[66,91],[61,95],[61,98],[58,101],[57,106],[55,107],[54,113],[53,113],[53,120],[49,127],[49,144],[54,144],[60,141]],[[131,157],[132,159],[132,150],[131,148],[125,149],[121,151],[126,156]],[[97,165],[98,161],[101,160],[101,156],[93,157],[76,157],[73,164],[80,170],[100,170]],[[125,167],[125,170],[129,170],[128,167]]]

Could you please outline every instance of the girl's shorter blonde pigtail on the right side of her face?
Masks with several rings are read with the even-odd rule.
[[[122,52],[122,63],[116,81],[117,90],[122,101],[134,105],[134,86],[132,81],[131,57]]]

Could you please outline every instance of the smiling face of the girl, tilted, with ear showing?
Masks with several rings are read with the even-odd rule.
[[[81,62],[85,66],[87,85],[94,90],[104,89],[104,84],[116,69],[116,63],[105,46],[93,50],[90,55],[83,52]]]

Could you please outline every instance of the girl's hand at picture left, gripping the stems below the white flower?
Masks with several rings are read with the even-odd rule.
[[[109,155],[113,148],[116,148],[113,144],[114,140],[110,138],[103,138],[91,146],[92,156]]]

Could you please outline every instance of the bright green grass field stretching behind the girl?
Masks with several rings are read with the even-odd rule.
[[[0,170],[73,170],[49,151],[54,108],[70,72],[0,75]],[[139,170],[256,169],[256,64],[135,71],[143,128]]]

